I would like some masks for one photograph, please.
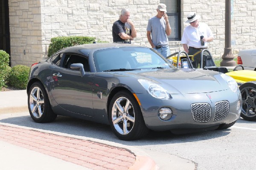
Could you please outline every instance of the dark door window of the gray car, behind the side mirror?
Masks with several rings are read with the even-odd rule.
[[[73,63],[82,63],[84,66],[84,71],[90,72],[89,62],[87,58],[84,58],[80,55],[66,54],[65,60],[63,62],[63,67],[67,69],[71,69],[70,65]]]

